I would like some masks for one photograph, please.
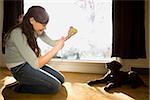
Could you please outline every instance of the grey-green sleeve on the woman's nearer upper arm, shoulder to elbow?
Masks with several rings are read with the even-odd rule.
[[[19,53],[18,55],[20,59],[24,59],[28,62],[33,68],[37,69],[38,58],[31,49],[31,47],[27,43],[27,38],[20,28],[16,28],[11,32],[10,41],[14,43],[14,47],[16,47],[17,51],[15,53]],[[13,52],[13,51],[12,51]],[[15,58],[14,58],[15,59]]]

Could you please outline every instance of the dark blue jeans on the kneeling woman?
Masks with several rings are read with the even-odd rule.
[[[11,68],[14,78],[19,81],[15,91],[23,93],[56,93],[61,84],[64,83],[64,76],[50,66],[43,66],[35,69],[30,64],[24,63]]]

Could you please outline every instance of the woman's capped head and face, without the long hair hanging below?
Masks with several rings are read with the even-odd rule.
[[[41,6],[32,6],[28,9],[23,18],[23,25],[32,28],[39,35],[43,33],[49,16],[46,10]]]

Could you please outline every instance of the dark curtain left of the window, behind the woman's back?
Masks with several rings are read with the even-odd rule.
[[[4,0],[4,19],[2,32],[2,52],[4,53],[4,36],[12,26],[18,23],[19,15],[24,13],[24,0]]]

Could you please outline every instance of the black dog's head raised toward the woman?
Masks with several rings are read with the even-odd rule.
[[[109,63],[106,63],[107,65],[107,69],[111,70],[111,71],[119,71],[120,68],[122,67],[122,64],[120,64],[117,61],[111,61]]]

